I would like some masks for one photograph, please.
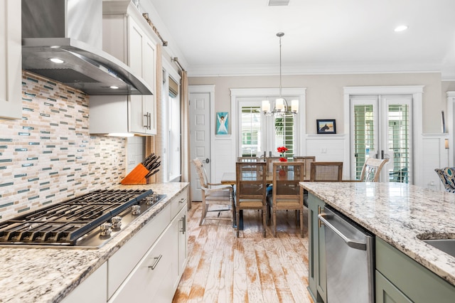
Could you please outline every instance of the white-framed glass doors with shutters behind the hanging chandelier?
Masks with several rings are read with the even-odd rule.
[[[291,117],[265,116],[261,110],[262,100],[269,100],[274,107],[274,100],[279,97],[278,88],[231,88],[232,112],[232,155],[256,154],[279,156],[277,147],[286,146],[286,156],[305,155],[305,87],[285,87],[282,97],[287,100],[299,100],[299,112]]]

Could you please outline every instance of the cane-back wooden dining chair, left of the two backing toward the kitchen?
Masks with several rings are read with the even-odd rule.
[[[236,172],[236,216],[237,238],[240,228],[240,211],[257,209],[262,211],[262,235],[266,236],[265,220],[266,206],[266,163],[265,162],[237,162]]]

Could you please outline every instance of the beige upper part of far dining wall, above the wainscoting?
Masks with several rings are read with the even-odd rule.
[[[231,88],[278,87],[278,76],[188,78],[190,85],[215,85],[215,112],[230,112]],[[283,87],[306,87],[306,132],[316,134],[316,119],[336,119],[337,132],[343,129],[343,87],[424,85],[423,132],[441,132],[441,110],[446,110],[445,92],[441,97],[439,73],[396,73],[363,75],[284,75]],[[437,123],[435,123],[437,121]],[[230,133],[231,130],[230,130]]]

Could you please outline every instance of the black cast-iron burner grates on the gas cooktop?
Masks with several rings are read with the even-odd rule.
[[[138,204],[149,190],[100,190],[0,222],[1,244],[75,245],[77,239]]]

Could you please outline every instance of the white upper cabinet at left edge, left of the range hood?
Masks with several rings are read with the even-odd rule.
[[[0,118],[22,117],[21,1],[0,2]]]

